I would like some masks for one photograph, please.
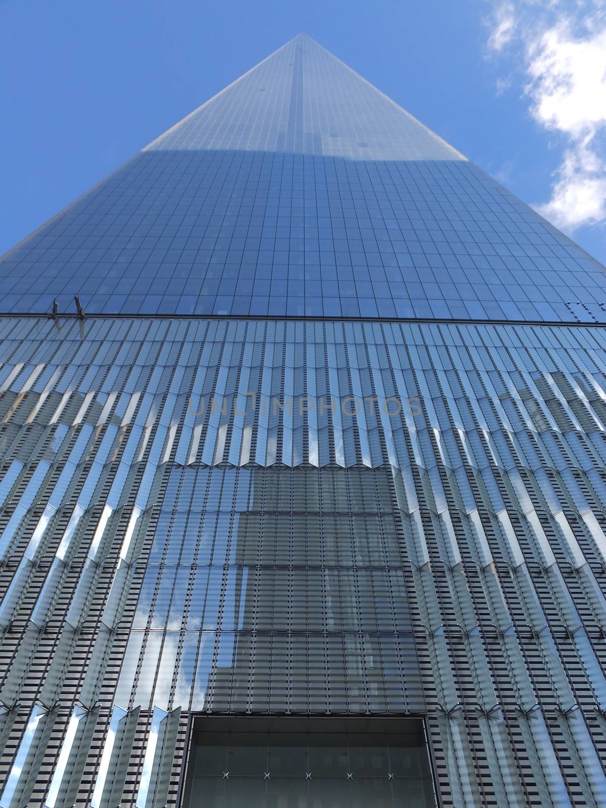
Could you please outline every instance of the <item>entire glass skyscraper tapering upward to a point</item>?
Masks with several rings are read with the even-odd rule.
[[[604,267],[297,36],[0,276],[0,808],[606,804]]]

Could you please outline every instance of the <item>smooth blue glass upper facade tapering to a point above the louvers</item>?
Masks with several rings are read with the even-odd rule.
[[[606,322],[604,267],[309,36],[0,259],[0,312]]]

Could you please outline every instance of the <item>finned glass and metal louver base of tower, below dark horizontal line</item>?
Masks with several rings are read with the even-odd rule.
[[[606,798],[602,330],[0,329],[8,808],[174,799],[191,711],[427,714],[444,805]]]

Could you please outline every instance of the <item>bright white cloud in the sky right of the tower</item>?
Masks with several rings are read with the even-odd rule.
[[[532,117],[564,142],[537,210],[569,232],[606,221],[606,0],[501,4],[487,46],[506,45],[518,46]]]

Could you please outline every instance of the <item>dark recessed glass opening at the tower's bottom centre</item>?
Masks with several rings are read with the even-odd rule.
[[[182,805],[436,806],[423,721],[196,716]]]

